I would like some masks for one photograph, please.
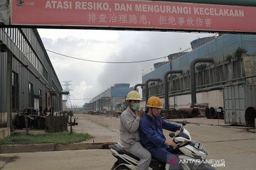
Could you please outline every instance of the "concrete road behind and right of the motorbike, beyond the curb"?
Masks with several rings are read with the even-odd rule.
[[[77,127],[75,130],[89,132],[95,136],[95,141],[98,142],[119,141],[119,118],[100,115],[79,115],[79,118],[80,121],[87,123],[82,123],[83,127]],[[90,123],[88,123],[88,120],[90,120]],[[255,169],[255,129],[225,125],[224,120],[206,118],[187,120],[186,129],[191,132],[193,140],[203,142],[209,154],[208,159],[213,159],[213,162],[218,162],[220,159],[225,161],[225,167],[216,167],[216,169]],[[181,124],[182,120],[172,121],[172,123]],[[104,128],[103,131],[99,128],[99,125]],[[169,131],[164,130],[164,134],[168,139]]]

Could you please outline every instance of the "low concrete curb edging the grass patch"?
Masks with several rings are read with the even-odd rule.
[[[112,142],[62,144],[1,145],[0,154],[20,152],[50,152],[80,149],[108,149]]]

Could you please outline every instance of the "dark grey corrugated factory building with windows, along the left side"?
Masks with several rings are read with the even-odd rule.
[[[0,130],[28,109],[61,111],[62,92],[38,31],[0,28]]]

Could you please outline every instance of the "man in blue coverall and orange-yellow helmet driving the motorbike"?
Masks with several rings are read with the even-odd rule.
[[[163,104],[160,98],[152,96],[146,106],[149,109],[140,120],[139,127],[142,145],[149,150],[153,159],[170,164],[169,169],[178,169],[178,158],[167,150],[167,146],[176,147],[176,143],[166,140],[163,128],[176,132],[181,129],[181,126],[168,123],[161,118],[160,112]]]

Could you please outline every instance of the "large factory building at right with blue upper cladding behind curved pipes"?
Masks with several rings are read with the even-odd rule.
[[[190,50],[169,55],[169,62],[155,64],[155,69],[142,77],[143,84],[149,79],[161,79],[149,82],[149,96],[159,96],[164,102],[164,74],[170,70],[181,70],[182,74],[169,74],[169,103],[164,104],[176,109],[191,107],[191,62],[198,58],[213,59],[213,62],[196,64],[196,103],[208,103],[215,111],[224,109],[225,123],[247,125],[245,102],[248,100],[245,100],[245,95],[242,95],[243,99],[241,94],[239,97],[235,89],[242,88],[239,93],[245,93],[245,89],[248,89],[245,86],[256,84],[256,35],[222,34],[193,40]],[[228,90],[230,87],[233,89]],[[234,91],[234,94],[224,91]],[[145,88],[142,93],[145,97]],[[256,106],[255,96],[250,96],[248,106]],[[233,98],[232,101],[228,101],[230,98]],[[141,106],[144,105],[145,101]],[[256,113],[250,114],[252,124]]]

